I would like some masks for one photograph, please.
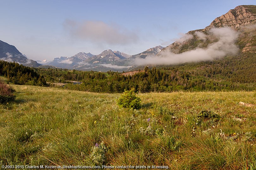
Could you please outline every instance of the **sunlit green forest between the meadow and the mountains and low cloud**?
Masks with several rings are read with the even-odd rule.
[[[223,60],[190,63],[168,67],[145,67],[134,75],[118,72],[76,71],[67,69],[37,69],[47,82],[81,81],[82,84],[67,84],[63,88],[100,93],[121,93],[125,89],[135,88],[138,92],[172,91],[221,91],[255,90],[256,76],[253,76],[253,61],[244,66],[243,61],[228,62],[238,57],[228,56]],[[241,74],[243,72],[243,74]]]

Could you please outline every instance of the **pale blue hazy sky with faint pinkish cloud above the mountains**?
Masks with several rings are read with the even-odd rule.
[[[168,46],[255,0],[0,0],[0,40],[29,59]]]

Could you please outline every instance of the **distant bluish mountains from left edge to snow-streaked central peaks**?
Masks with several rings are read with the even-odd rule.
[[[0,41],[0,59],[15,61],[19,64],[30,67],[54,66],[58,68],[84,71],[126,71],[129,68],[134,67],[133,59],[145,58],[147,55],[156,55],[162,48],[162,46],[156,46],[136,55],[129,55],[120,51],[107,49],[98,55],[80,52],[71,57],[57,57],[52,61],[47,61],[46,59],[42,61],[34,61],[32,59],[28,59],[25,54],[21,54],[15,46]]]

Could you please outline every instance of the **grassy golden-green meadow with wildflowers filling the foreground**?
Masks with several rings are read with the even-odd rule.
[[[255,105],[256,92],[145,93],[142,108],[129,110],[117,106],[120,94],[13,87],[15,102],[0,105],[1,166],[256,164],[256,107],[238,104]],[[102,142],[99,163],[92,152]]]

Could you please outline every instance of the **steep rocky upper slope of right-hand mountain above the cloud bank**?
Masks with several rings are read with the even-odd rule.
[[[246,25],[253,25],[256,22],[256,5],[241,5],[229,10],[226,14],[217,17],[209,26],[201,30],[189,31],[183,42],[176,41],[163,48],[158,55],[164,52],[180,54],[195,48],[206,48],[209,44],[217,41],[217,38],[209,35],[212,28],[230,27],[235,30]],[[206,37],[207,35],[207,37]],[[209,36],[208,36],[209,35]]]

